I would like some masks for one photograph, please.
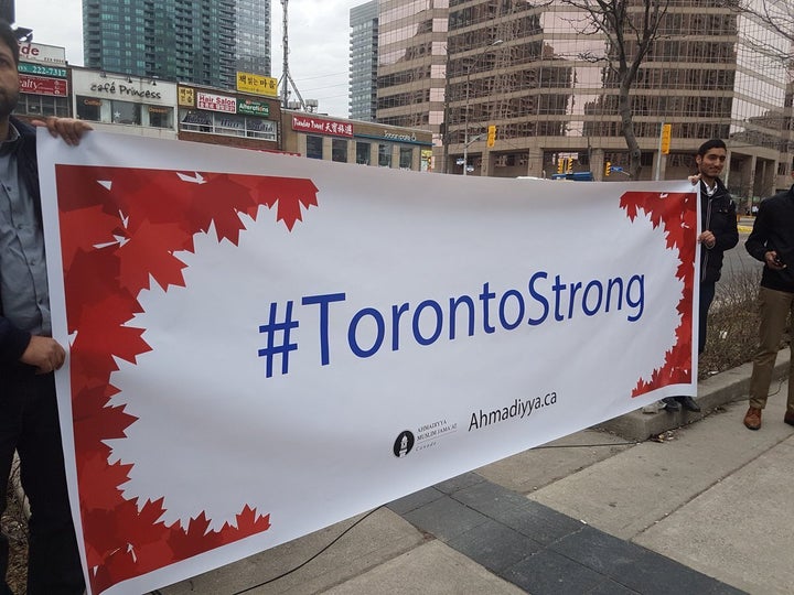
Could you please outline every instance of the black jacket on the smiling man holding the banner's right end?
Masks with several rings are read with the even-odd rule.
[[[715,235],[717,244],[711,249],[702,246],[700,249],[700,282],[716,283],[722,270],[722,255],[739,244],[739,229],[737,228],[736,203],[722,181],[716,178],[717,191],[712,196],[706,193],[700,182],[700,221],[702,230]]]

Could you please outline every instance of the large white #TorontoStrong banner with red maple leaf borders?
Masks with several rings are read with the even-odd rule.
[[[93,593],[144,593],[695,394],[686,181],[39,142]]]

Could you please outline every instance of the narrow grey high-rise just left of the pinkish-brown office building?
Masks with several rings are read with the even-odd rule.
[[[375,121],[377,111],[378,0],[350,11],[350,117]]]

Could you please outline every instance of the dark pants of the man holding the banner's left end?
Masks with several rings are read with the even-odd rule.
[[[85,583],[66,490],[53,375],[4,369],[0,375],[0,513],[6,510],[15,448],[31,506],[28,595],[81,595]],[[0,578],[8,570],[8,539],[0,536]],[[8,592],[4,581],[0,587]]]

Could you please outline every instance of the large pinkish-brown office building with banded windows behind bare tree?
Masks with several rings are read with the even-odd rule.
[[[739,196],[788,183],[791,154],[781,149],[790,137],[790,76],[761,48],[788,55],[791,42],[737,8],[670,3],[631,91],[642,177],[686,175],[697,147],[719,137]],[[437,171],[462,173],[463,155],[481,175],[549,177],[561,162],[597,178],[607,162],[627,170],[618,83],[604,60],[614,48],[588,33],[587,19],[561,1],[382,1],[378,120],[437,132]],[[664,158],[663,123],[672,126]]]

